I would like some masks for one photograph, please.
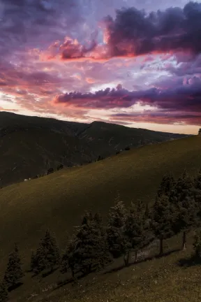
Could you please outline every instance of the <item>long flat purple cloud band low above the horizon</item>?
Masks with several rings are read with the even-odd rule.
[[[129,108],[140,102],[168,111],[201,112],[201,80],[198,77],[188,79],[185,85],[176,85],[168,89],[151,88],[140,91],[128,91],[118,85],[116,89],[97,92],[70,92],[54,98],[54,103],[64,103],[80,108]]]

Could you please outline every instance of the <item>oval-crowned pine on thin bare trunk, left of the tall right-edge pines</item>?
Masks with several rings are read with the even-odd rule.
[[[156,198],[153,207],[152,229],[156,238],[160,240],[159,255],[163,255],[163,240],[174,235],[172,225],[174,223],[174,207],[168,196],[162,195]]]

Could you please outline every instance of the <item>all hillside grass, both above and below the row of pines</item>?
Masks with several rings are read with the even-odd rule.
[[[66,245],[68,233],[80,224],[84,210],[107,215],[114,199],[142,200],[152,203],[164,173],[175,177],[186,168],[196,173],[201,167],[201,137],[182,138],[158,145],[130,150],[94,164],[64,169],[43,178],[11,185],[0,190],[0,271],[8,253],[17,242],[24,263],[29,268],[31,250],[36,249],[45,229],[55,231],[60,249]],[[165,241],[166,257],[142,261],[120,269],[118,259],[105,272],[91,274],[76,284],[62,285],[68,275],[59,271],[45,278],[24,277],[23,285],[10,293],[11,302],[187,302],[200,301],[200,266],[179,266],[188,259],[190,245],[183,252],[181,236]],[[158,247],[147,251],[154,257]],[[169,254],[170,253],[170,254]],[[31,297],[32,294],[36,296]]]

